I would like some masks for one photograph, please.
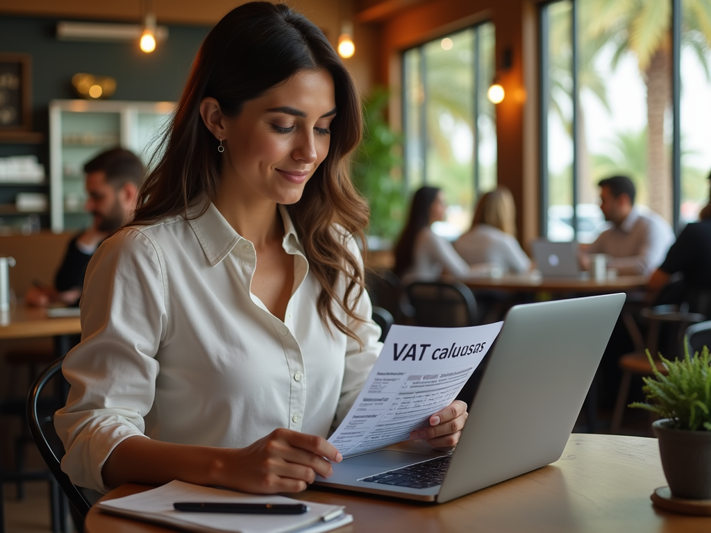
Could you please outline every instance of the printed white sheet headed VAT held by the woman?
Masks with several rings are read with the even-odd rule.
[[[348,457],[405,441],[428,426],[429,417],[459,394],[502,325],[393,325],[351,411],[328,442]]]

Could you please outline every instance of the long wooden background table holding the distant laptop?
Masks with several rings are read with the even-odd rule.
[[[595,281],[577,278],[542,278],[522,274],[501,278],[471,277],[460,279],[470,289],[495,289],[507,292],[577,292],[585,294],[609,294],[614,292],[643,291],[646,276],[619,276],[616,279]]]

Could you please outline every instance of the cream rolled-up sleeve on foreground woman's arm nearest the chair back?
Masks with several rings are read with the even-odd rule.
[[[107,492],[105,461],[124,439],[144,436],[169,323],[165,285],[159,248],[134,229],[107,239],[87,268],[82,342],[65,357],[71,388],[55,416],[62,470],[76,485]]]

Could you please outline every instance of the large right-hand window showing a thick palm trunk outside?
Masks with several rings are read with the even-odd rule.
[[[597,182],[620,173],[634,181],[642,208],[674,226],[695,220],[711,170],[711,12],[704,3],[542,6],[543,235],[594,239],[603,227]]]

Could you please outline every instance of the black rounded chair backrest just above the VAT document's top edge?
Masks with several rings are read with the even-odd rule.
[[[415,308],[416,325],[439,328],[476,325],[476,299],[461,281],[415,281],[405,287],[405,292]]]

